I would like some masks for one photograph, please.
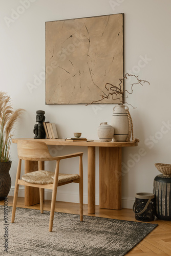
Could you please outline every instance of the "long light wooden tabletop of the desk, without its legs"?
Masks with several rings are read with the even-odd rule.
[[[66,146],[102,146],[102,147],[126,147],[138,146],[138,142],[102,142],[100,140],[93,141],[65,141],[65,139],[34,139],[34,138],[14,138],[12,143],[17,143],[18,140],[42,141],[47,145],[66,145]]]

